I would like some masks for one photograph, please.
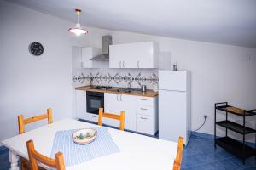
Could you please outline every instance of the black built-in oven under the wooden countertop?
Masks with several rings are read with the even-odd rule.
[[[87,113],[98,115],[99,108],[104,108],[104,93],[87,91],[86,108]]]

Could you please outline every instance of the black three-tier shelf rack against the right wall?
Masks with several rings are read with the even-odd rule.
[[[224,111],[226,114],[226,119],[224,121],[216,121],[216,115],[218,111]],[[231,122],[228,120],[228,114],[233,114],[236,116],[242,117],[242,125],[238,124],[236,122]],[[245,120],[247,116],[255,116],[256,115],[256,109],[255,110],[243,110],[231,105],[228,105],[228,102],[222,102],[222,103],[216,103],[214,107],[214,146],[216,148],[216,145],[224,148],[224,150],[229,151],[233,155],[239,157],[242,159],[242,163],[245,163],[246,158],[255,156],[256,159],[256,135],[255,135],[255,146],[254,148],[251,146],[248,146],[245,143],[245,136],[250,133],[256,133],[256,130],[250,127],[246,127]],[[216,125],[220,127],[225,128],[225,136],[217,138],[216,136]],[[228,136],[228,129],[239,133],[242,135],[242,142],[232,139]]]

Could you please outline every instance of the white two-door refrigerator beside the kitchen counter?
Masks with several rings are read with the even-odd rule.
[[[159,71],[159,138],[187,144],[191,134],[189,71]]]

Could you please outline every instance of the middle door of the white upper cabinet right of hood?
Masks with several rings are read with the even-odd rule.
[[[137,43],[125,43],[121,48],[122,68],[137,68]]]

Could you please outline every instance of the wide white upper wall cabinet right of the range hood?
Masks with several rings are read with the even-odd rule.
[[[155,42],[134,42],[109,46],[110,68],[157,68],[158,46]]]

